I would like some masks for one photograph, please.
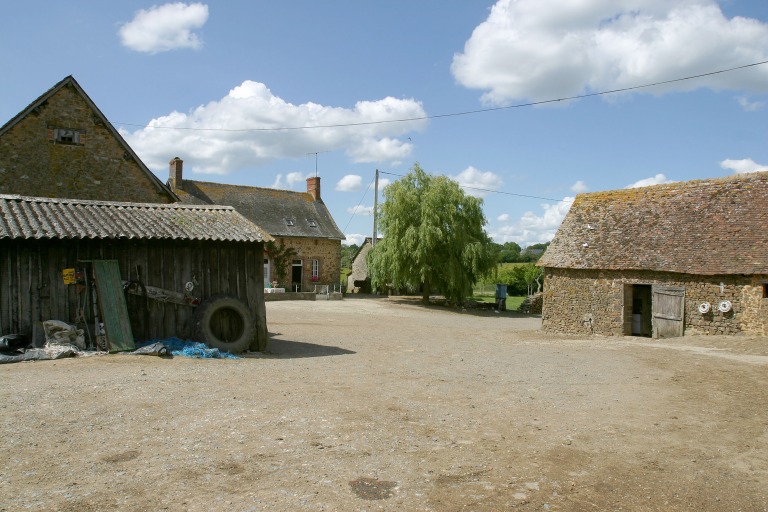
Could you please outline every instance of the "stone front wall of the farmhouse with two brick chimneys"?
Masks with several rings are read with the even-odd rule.
[[[339,276],[341,274],[341,241],[328,240],[324,238],[299,238],[285,237],[283,240],[287,247],[293,247],[297,251],[297,256],[292,259],[301,260],[302,264],[302,283],[300,291],[312,291],[316,284],[329,285],[330,290],[339,288]],[[317,260],[319,274],[317,281],[312,281],[312,260]],[[274,262],[270,261],[269,275],[271,279],[276,279]],[[291,262],[288,262],[286,269],[286,283],[278,283],[288,291],[291,281]],[[335,287],[335,288],[334,288]]]

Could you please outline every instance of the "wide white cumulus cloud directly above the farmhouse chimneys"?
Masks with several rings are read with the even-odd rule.
[[[181,155],[192,173],[228,174],[278,158],[344,150],[355,162],[396,162],[412,144],[399,139],[423,130],[426,120],[379,123],[426,116],[414,99],[360,101],[354,108],[289,103],[266,85],[246,80],[220,100],[188,113],[171,112],[134,132],[120,130],[147,166],[162,175]],[[373,124],[360,124],[373,123]],[[355,126],[350,126],[355,125]],[[330,126],[328,128],[311,128]],[[285,129],[302,128],[307,129]],[[186,168],[186,167],[185,167]]]

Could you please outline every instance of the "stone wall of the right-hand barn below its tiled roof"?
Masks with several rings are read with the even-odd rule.
[[[685,334],[768,335],[765,277],[546,268],[542,328],[577,335],[631,334],[631,293],[627,290],[632,285],[663,285],[685,289]],[[724,300],[732,305],[727,313],[717,308]],[[709,302],[712,311],[700,313],[703,302]]]

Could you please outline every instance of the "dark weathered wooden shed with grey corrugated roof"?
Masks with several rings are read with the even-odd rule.
[[[136,340],[264,350],[271,239],[228,206],[0,195],[0,334],[33,338],[36,323],[55,319],[95,337],[106,311],[94,262],[109,261]]]

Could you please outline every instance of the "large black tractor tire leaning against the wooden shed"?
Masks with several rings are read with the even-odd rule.
[[[256,334],[253,312],[235,297],[214,297],[195,311],[197,341],[232,354],[245,352]]]

